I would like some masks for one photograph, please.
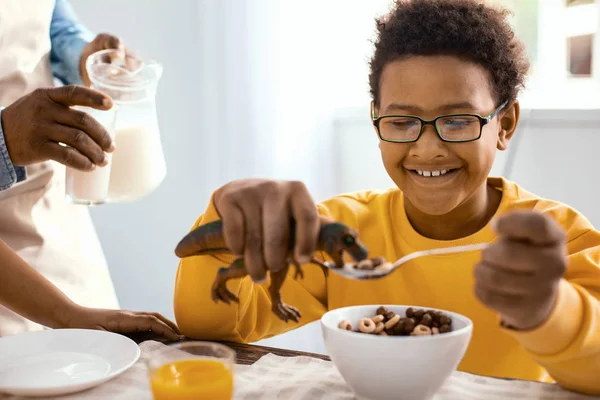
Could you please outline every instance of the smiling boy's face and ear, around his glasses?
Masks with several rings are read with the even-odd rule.
[[[429,120],[455,113],[486,117],[498,106],[487,71],[451,56],[413,56],[389,63],[380,85],[378,117],[406,114]],[[416,142],[380,141],[383,164],[414,207],[429,215],[447,214],[481,190],[496,150],[506,148],[517,119],[518,105],[509,104],[484,125],[479,140],[466,143],[443,142],[435,128],[426,125]],[[444,170],[449,172],[430,173]]]

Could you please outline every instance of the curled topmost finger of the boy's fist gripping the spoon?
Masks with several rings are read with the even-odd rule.
[[[547,215],[532,211],[513,211],[495,221],[498,234],[536,245],[552,245],[564,241],[563,228]]]

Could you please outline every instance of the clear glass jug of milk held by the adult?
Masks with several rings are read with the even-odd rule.
[[[92,89],[113,99],[116,108],[108,202],[132,202],[152,193],[167,174],[156,113],[162,65],[122,50],[88,57]]]

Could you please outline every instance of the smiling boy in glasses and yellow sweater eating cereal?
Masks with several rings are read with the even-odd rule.
[[[517,127],[528,71],[506,13],[476,0],[398,1],[378,23],[370,67],[371,117],[398,188],[315,207],[297,182],[221,187],[194,227],[221,218],[250,276],[229,284],[239,304],[214,304],[212,281],[234,257],[183,259],[175,292],[182,332],[251,342],[348,305],[436,307],[475,324],[461,370],[600,394],[600,233],[572,208],[488,177]],[[283,299],[302,313],[286,324],[271,312],[268,283],[260,283],[266,270],[282,268],[290,217],[294,254],[307,262],[317,213],[357,230],[370,257],[390,261],[434,247],[489,247],[415,259],[373,281],[326,277],[307,265],[304,279],[292,272],[284,284]]]

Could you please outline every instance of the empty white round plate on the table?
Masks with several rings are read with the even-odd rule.
[[[125,372],[139,357],[133,340],[105,331],[56,329],[6,336],[0,338],[0,392],[79,392]]]

